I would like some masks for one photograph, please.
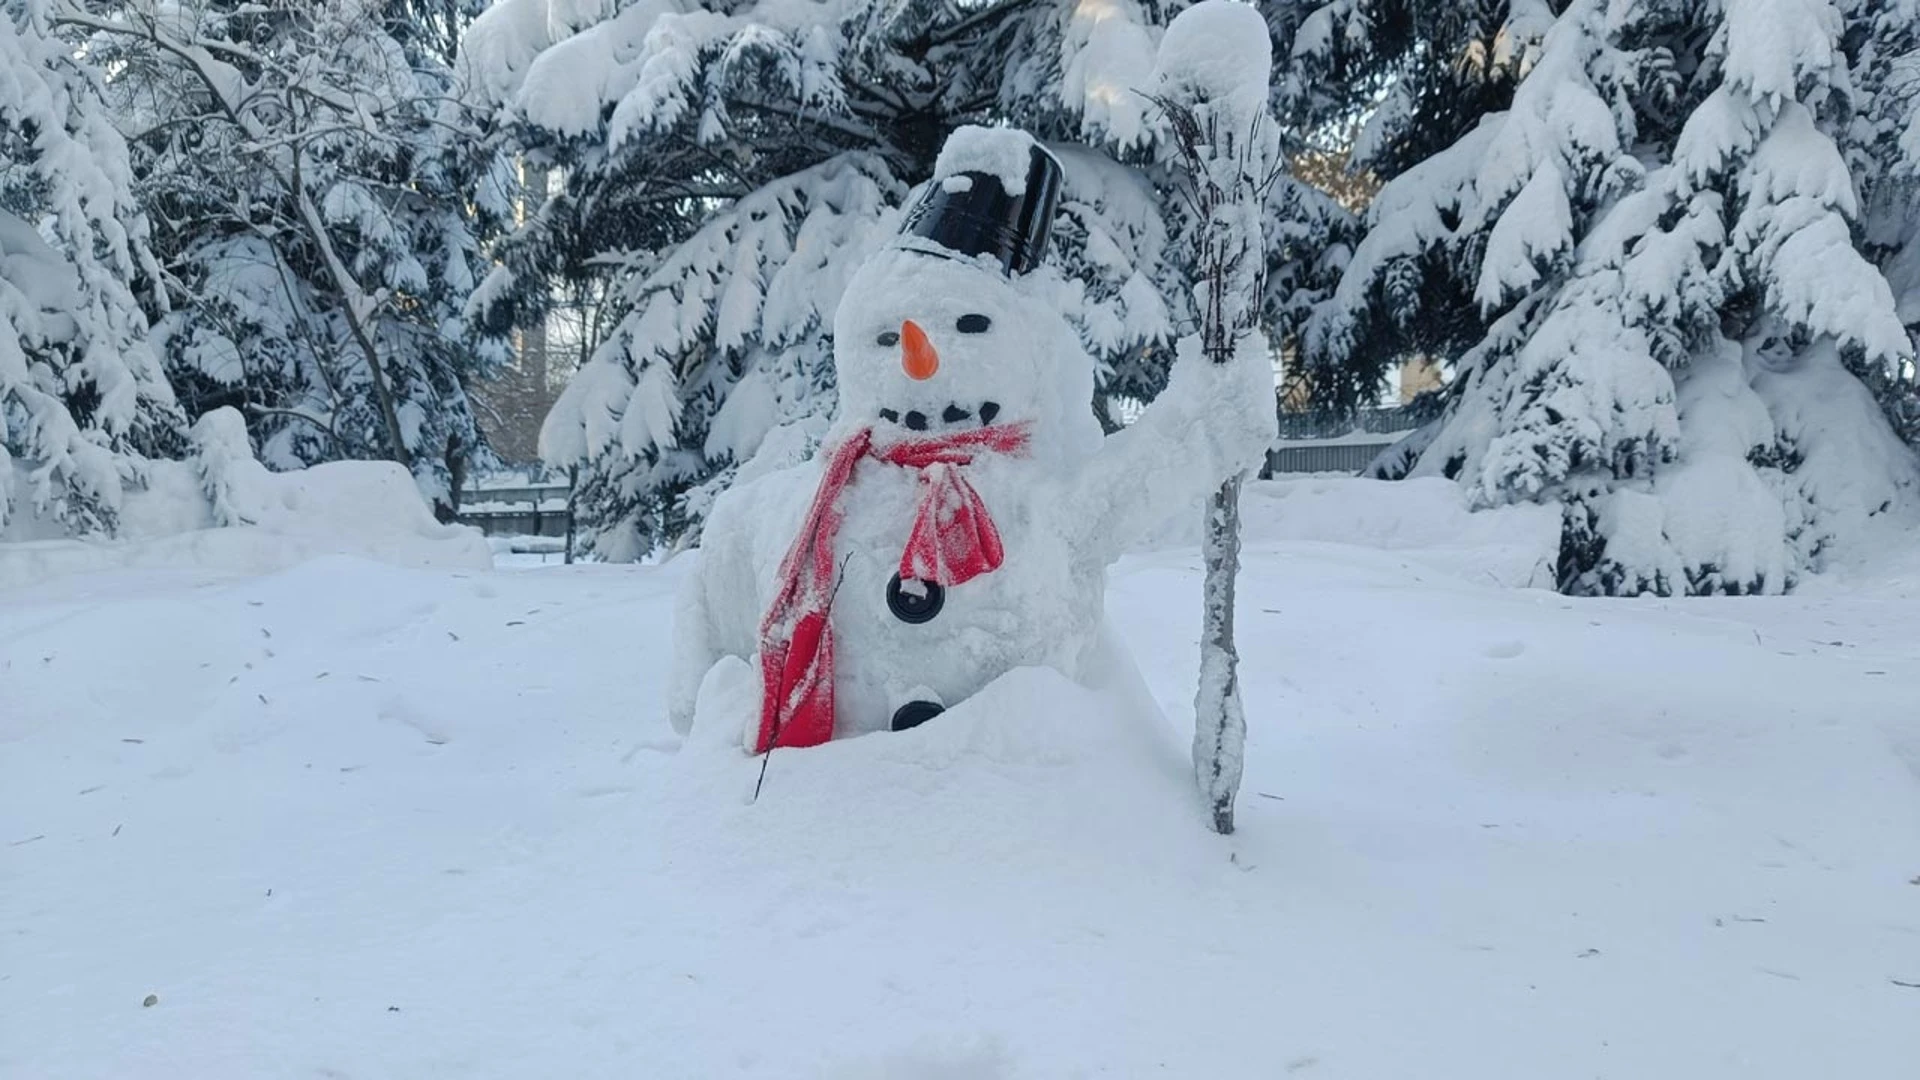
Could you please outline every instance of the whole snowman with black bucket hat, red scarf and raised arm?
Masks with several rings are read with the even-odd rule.
[[[758,678],[724,694],[758,701],[755,751],[906,730],[1016,667],[1083,678],[1106,567],[1261,461],[1269,363],[1190,342],[1165,392],[1102,432],[1092,357],[1046,302],[1060,186],[1025,133],[960,129],[849,281],[820,452],[708,513],[676,617],[680,730],[722,694],[716,665]]]

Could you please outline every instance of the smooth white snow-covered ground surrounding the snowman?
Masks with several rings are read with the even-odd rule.
[[[1177,546],[1165,719],[1021,671],[756,803],[664,721],[685,559],[10,578],[0,1076],[1912,1076],[1920,552],[1580,601],[1542,513],[1250,488],[1233,838]]]

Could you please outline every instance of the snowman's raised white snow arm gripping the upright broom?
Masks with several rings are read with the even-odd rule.
[[[1258,469],[1273,444],[1273,365],[1265,338],[1248,334],[1229,363],[1181,338],[1167,388],[1110,434],[1073,484],[1075,540],[1108,563],[1219,484]]]

